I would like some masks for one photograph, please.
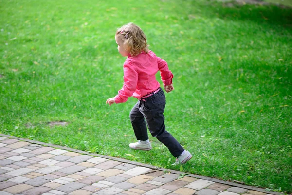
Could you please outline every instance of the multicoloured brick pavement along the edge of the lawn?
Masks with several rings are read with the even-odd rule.
[[[0,195],[280,195],[0,134]]]

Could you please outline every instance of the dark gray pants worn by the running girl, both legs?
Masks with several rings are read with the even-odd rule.
[[[163,89],[152,96],[139,100],[130,112],[131,123],[137,140],[146,141],[148,139],[147,127],[153,137],[156,137],[177,157],[183,153],[181,144],[165,130],[164,108],[165,95]],[[146,122],[145,122],[146,121]]]

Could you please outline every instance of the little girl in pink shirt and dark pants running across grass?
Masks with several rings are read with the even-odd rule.
[[[177,158],[176,164],[186,163],[192,155],[165,130],[164,125],[165,95],[155,74],[160,71],[167,93],[174,90],[173,74],[168,69],[166,61],[148,49],[145,34],[133,23],[119,28],[116,31],[115,40],[119,53],[128,57],[123,66],[123,88],[118,91],[118,95],[109,98],[106,103],[109,105],[123,103],[131,96],[138,99],[130,112],[130,120],[138,142],[130,143],[129,147],[136,150],[152,149],[148,139],[147,125],[151,135],[162,142]]]

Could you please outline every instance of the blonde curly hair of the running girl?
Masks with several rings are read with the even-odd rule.
[[[148,53],[146,35],[136,24],[130,22],[118,28],[115,36],[119,36],[124,41],[125,48],[131,56],[137,56],[142,51]]]

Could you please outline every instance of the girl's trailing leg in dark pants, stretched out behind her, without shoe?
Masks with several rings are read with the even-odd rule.
[[[164,124],[164,108],[165,95],[162,89],[156,94],[141,101],[142,105],[139,108],[143,113],[148,129],[153,137],[156,137],[162,142],[174,157],[178,157],[184,151],[181,144],[165,130]]]

